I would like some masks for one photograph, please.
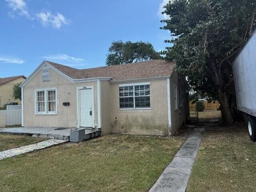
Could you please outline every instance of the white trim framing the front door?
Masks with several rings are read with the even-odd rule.
[[[77,114],[77,127],[80,127],[80,94],[81,89],[92,89],[92,128],[95,128],[94,119],[94,86],[80,86],[76,87],[76,114]]]

